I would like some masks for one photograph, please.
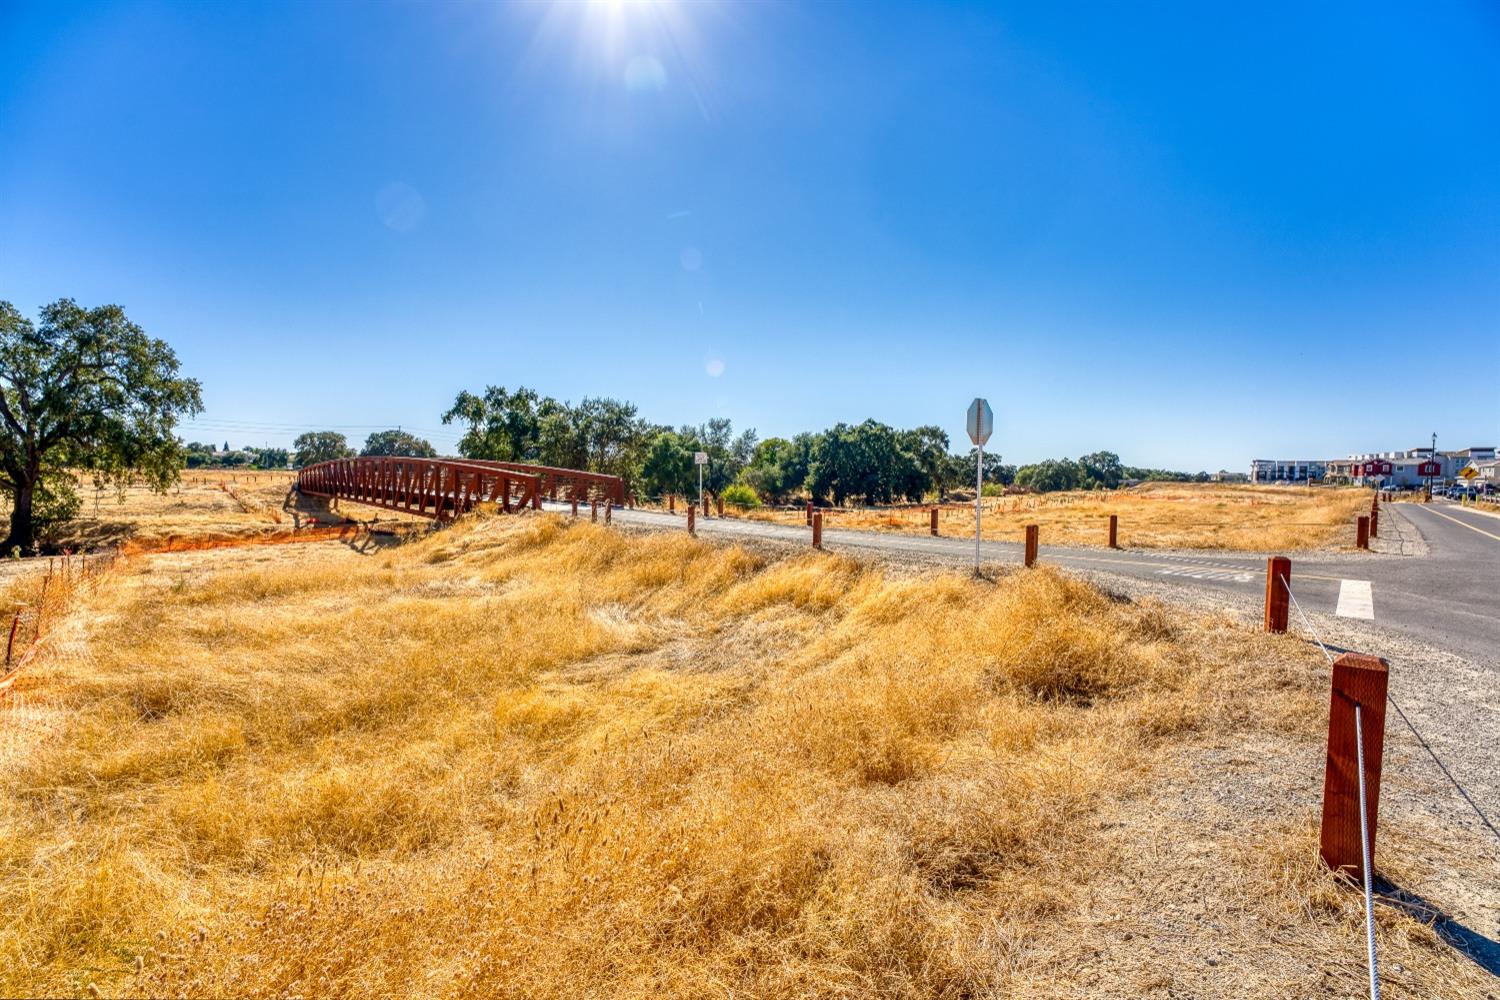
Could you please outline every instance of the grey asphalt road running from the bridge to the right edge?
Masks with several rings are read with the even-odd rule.
[[[562,504],[549,507],[566,510]],[[616,510],[614,517],[627,525],[686,526],[682,514]],[[812,540],[806,526],[734,517],[699,517],[696,531],[708,538],[790,544]],[[1392,552],[1314,553],[1300,559],[1293,553],[1292,591],[1302,609],[1371,619],[1478,663],[1500,661],[1500,517],[1448,502],[1386,504],[1382,537]],[[825,528],[824,549],[948,565],[974,562],[972,538]],[[1424,549],[1424,555],[1398,553]],[[984,541],[980,558],[982,564],[1020,564],[1022,546]],[[1047,546],[1042,538],[1038,559],[1066,570],[1214,588],[1251,607],[1264,600],[1266,553],[1083,549]]]

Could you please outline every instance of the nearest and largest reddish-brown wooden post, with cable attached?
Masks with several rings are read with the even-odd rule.
[[[1328,768],[1323,772],[1323,861],[1354,879],[1364,868],[1359,844],[1359,754],[1354,747],[1354,705],[1365,742],[1365,825],[1370,864],[1376,858],[1376,816],[1380,813],[1380,756],[1386,742],[1386,684],[1390,669],[1380,657],[1341,654],[1334,661],[1334,694],[1328,709]],[[1372,876],[1374,873],[1371,873]]]

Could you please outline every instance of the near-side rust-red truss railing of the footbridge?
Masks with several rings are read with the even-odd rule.
[[[297,490],[438,520],[480,504],[495,504],[506,513],[542,507],[540,477],[460,459],[334,459],[300,469]]]

